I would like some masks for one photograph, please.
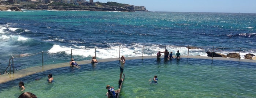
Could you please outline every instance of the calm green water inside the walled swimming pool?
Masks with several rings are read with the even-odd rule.
[[[17,98],[25,91],[38,98],[107,98],[107,84],[118,89],[119,61],[100,62],[96,66],[58,68],[0,84],[0,98]],[[47,83],[53,74],[55,82]],[[255,63],[182,58],[179,60],[127,60],[120,98],[255,98]],[[151,83],[154,75],[158,83]],[[35,80],[41,77],[40,80]]]

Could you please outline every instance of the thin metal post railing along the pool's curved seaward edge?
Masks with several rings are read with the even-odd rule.
[[[165,47],[165,50],[166,50],[166,45],[164,46]],[[242,50],[256,50],[256,49],[246,49],[246,48],[223,48],[223,47],[217,47],[217,46],[192,46],[192,45],[188,45],[188,46],[175,46],[175,47],[187,47],[188,48],[188,56],[189,56],[189,47],[196,47],[196,48],[201,48],[201,47],[212,47],[212,58],[214,57],[214,48],[221,48],[221,49],[239,49],[239,57],[240,54],[241,54],[241,51]],[[118,48],[118,47],[114,47],[114,48]],[[95,47],[95,59],[96,59],[96,49],[97,47]],[[100,48],[99,48],[100,49]],[[142,46],[142,60],[143,60],[143,56],[144,56],[144,49],[145,49],[145,46]],[[71,51],[71,58],[73,58],[73,50],[87,50],[87,49],[71,49],[71,50],[65,50],[65,51],[58,51],[58,52],[66,52],[66,51]],[[121,47],[119,46],[119,59],[120,59],[120,50],[121,50]],[[44,51],[42,52],[39,52],[42,54],[42,67],[44,66]],[[11,66],[12,66],[12,71],[14,73],[14,58],[22,58],[22,57],[28,57],[28,56],[33,56],[33,55],[36,55],[36,54],[39,54],[39,53],[35,53],[35,54],[30,54],[30,55],[26,55],[26,56],[20,56],[20,57],[11,57],[11,59],[9,59],[9,64],[7,66],[7,68],[5,69],[4,73],[11,73]],[[57,52],[45,52],[45,53],[57,53]],[[12,60],[12,62],[11,62]],[[240,58],[239,58],[240,60]],[[12,64],[11,64],[12,63]],[[7,72],[7,69],[10,68],[10,72]],[[4,74],[3,73],[3,74]]]

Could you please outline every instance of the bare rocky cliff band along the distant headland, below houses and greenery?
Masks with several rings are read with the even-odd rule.
[[[26,7],[21,4],[15,5],[6,5],[0,4],[0,11],[22,11],[24,10],[60,10],[60,11],[122,11],[122,12],[135,12],[135,11],[148,11],[144,6],[134,6],[134,5],[125,5],[125,6],[84,6],[84,7],[67,7],[67,6],[50,6],[48,4],[36,4],[33,8]]]

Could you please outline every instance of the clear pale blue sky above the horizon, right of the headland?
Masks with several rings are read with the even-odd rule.
[[[148,11],[256,13],[256,0],[93,0],[97,1],[144,6]]]

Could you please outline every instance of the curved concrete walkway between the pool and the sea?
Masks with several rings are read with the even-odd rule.
[[[164,56],[161,56],[163,59]],[[251,62],[256,63],[256,60],[249,60],[249,59],[233,59],[233,58],[223,58],[223,57],[204,57],[204,56],[181,56],[181,58],[194,58],[194,59],[212,59],[212,60],[227,60],[227,61],[241,61],[241,62]],[[156,56],[138,56],[138,57],[126,57],[126,60],[134,60],[134,59],[156,59]],[[108,59],[97,59],[99,62],[108,62],[108,61],[118,61],[119,58],[108,58]],[[91,60],[84,60],[84,61],[76,61],[78,64],[90,64]],[[11,72],[10,74],[5,73],[0,75],[0,84],[6,83],[18,78],[22,78],[25,76],[29,76],[35,73],[44,72],[50,69],[62,68],[62,67],[69,67],[69,62],[67,63],[58,63],[58,64],[49,64],[44,66],[36,66],[36,67],[29,67],[26,69],[21,69],[15,71],[14,73]]]

